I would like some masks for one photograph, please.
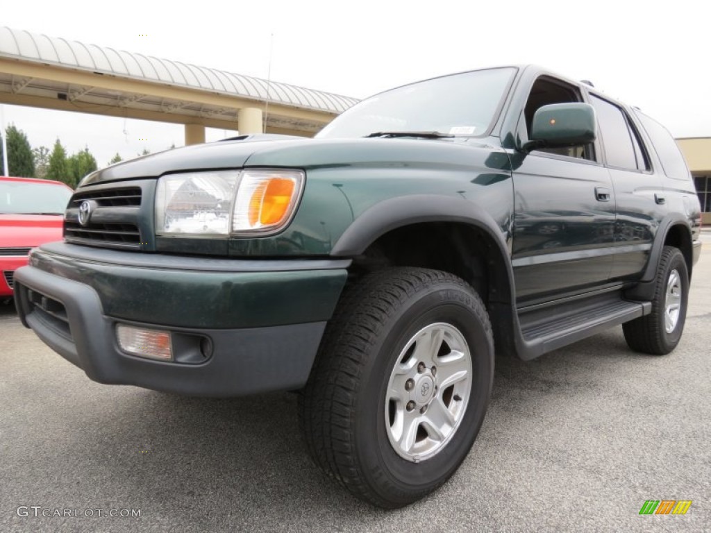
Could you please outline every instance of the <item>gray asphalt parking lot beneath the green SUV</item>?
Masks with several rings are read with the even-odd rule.
[[[311,465],[293,394],[194,399],[96,384],[0,305],[0,531],[709,531],[704,239],[673,354],[630,352],[615,328],[532,362],[498,360],[464,465],[390,512]],[[693,504],[638,515],[645,500]]]

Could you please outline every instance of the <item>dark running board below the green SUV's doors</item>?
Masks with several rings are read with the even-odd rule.
[[[651,302],[622,299],[620,291],[559,305],[520,311],[518,320],[526,345],[525,359],[600,333],[651,313]]]

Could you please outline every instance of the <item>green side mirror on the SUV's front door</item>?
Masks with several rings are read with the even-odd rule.
[[[523,151],[557,146],[579,146],[597,138],[595,110],[590,104],[548,104],[536,109],[530,141]]]

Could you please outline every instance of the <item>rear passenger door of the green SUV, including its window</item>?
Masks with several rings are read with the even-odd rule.
[[[636,279],[651,253],[656,229],[666,212],[661,177],[651,171],[638,128],[619,105],[590,95],[604,161],[616,200],[611,279]]]

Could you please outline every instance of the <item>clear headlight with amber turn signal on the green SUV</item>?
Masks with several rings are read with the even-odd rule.
[[[163,176],[158,235],[267,235],[287,225],[304,188],[301,171],[213,171]]]

